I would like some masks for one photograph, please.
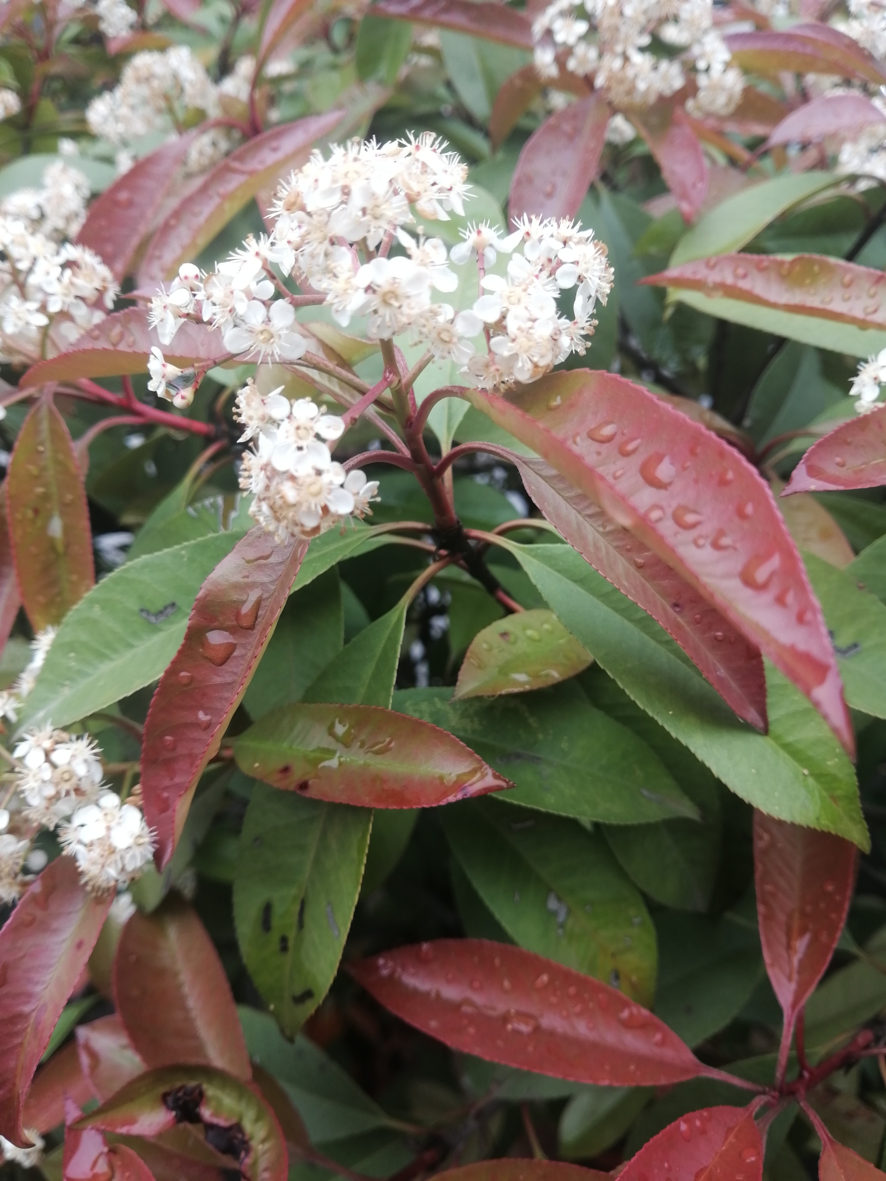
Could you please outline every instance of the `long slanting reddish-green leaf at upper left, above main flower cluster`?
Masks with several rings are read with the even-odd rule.
[[[200,254],[260,189],[304,163],[314,142],[331,131],[341,115],[327,111],[272,128],[220,161],[151,239],[138,268],[138,286],[151,287],[171,278],[182,262]]]

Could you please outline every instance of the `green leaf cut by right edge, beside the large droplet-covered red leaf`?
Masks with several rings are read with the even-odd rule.
[[[886,718],[886,606],[861,590],[851,570],[813,554],[803,554],[803,561],[834,641],[846,700]]]

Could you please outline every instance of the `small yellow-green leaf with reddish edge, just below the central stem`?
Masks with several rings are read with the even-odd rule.
[[[477,632],[464,653],[452,700],[545,689],[575,677],[592,659],[553,611],[521,611]]]

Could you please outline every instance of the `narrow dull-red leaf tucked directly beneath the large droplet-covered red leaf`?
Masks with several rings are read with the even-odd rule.
[[[527,492],[569,544],[664,627],[740,718],[766,730],[760,650],[736,634],[695,586],[553,468],[539,459],[520,459],[517,465]]]

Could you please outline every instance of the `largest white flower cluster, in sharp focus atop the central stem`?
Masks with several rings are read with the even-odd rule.
[[[170,344],[183,320],[201,318],[246,360],[299,360],[308,341],[285,289],[276,298],[276,266],[324,296],[343,327],[360,315],[372,340],[409,332],[435,359],[456,361],[483,387],[534,381],[571,352],[584,353],[594,305],[605,304],[612,287],[606,248],[592,230],[527,217],[502,236],[481,224],[463,231],[449,257],[439,239],[406,231],[412,208],[428,218],[463,209],[467,170],[444,146],[426,133],[382,146],[353,142],[333,148],[330,159],[314,154],[278,190],[271,235],[248,239],[208,275],[184,265],[170,289],[154,298],[149,320],[161,341]],[[513,255],[507,278],[486,273],[497,253]],[[457,313],[434,298],[458,287],[450,259],[457,266],[474,260],[481,270],[480,299]],[[567,318],[558,299],[572,288]],[[476,352],[477,340],[487,351]],[[152,390],[189,404],[193,371],[170,365],[159,350],[149,368]]]

